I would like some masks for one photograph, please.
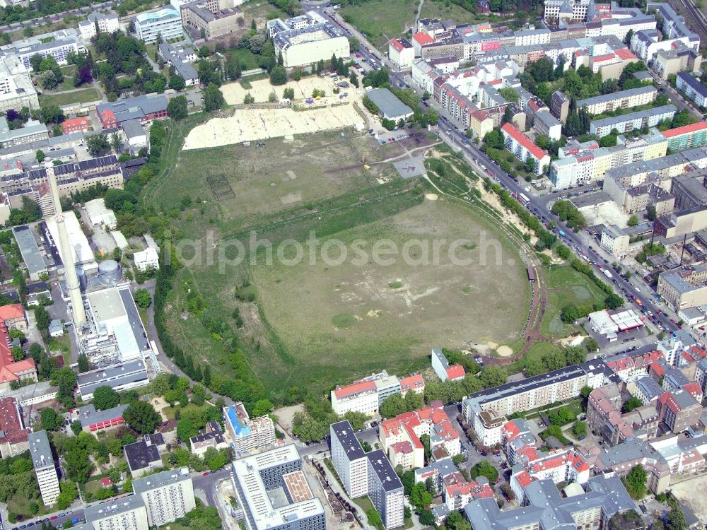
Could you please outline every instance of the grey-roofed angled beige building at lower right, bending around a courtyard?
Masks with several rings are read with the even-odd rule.
[[[599,454],[595,462],[596,473],[613,471],[624,477],[634,466],[641,465],[648,474],[648,489],[653,493],[662,493],[670,485],[670,466],[665,457],[650,444],[631,438],[614,447],[609,447]]]

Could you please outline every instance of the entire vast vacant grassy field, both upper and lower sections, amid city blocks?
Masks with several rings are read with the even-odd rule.
[[[144,200],[174,218],[178,240],[201,245],[201,259],[177,273],[165,307],[168,331],[185,353],[230,375],[226,345],[189,312],[194,293],[206,314],[240,325],[250,368],[275,397],[293,386],[322,391],[371,370],[411,372],[428,364],[433,346],[517,341],[530,301],[520,257],[472,206],[425,199],[419,179],[397,177],[385,160],[405,147],[415,145],[379,146],[350,131],[341,141],[335,131],[169,158],[174,166]],[[180,211],[185,196],[192,204]],[[232,260],[236,241],[248,252],[251,230],[274,245],[272,261],[264,249]],[[288,264],[292,240],[305,242],[312,231],[320,240],[314,262],[305,246],[304,261]],[[349,252],[340,264],[322,260],[334,239]],[[370,257],[377,240],[397,245],[393,264],[353,261],[357,248]],[[445,240],[438,261],[422,261],[420,244],[405,247],[416,263],[406,261],[402,249],[413,240],[429,245],[430,260],[432,240]],[[455,240],[465,240],[455,254],[470,264],[450,260]],[[335,261],[339,252],[333,246],[328,255]]]

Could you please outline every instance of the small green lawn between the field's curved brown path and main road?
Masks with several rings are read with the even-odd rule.
[[[568,336],[575,327],[565,324],[560,318],[563,307],[571,304],[593,305],[604,300],[604,292],[587,276],[570,266],[550,266],[543,272],[547,284],[547,310],[542,319],[540,332],[547,337]]]

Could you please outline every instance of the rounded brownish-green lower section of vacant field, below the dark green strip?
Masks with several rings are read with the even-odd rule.
[[[484,237],[495,238],[496,231],[468,208],[425,201],[334,235],[349,252],[356,240],[368,252],[379,240],[395,242],[398,249],[421,241],[421,247],[411,246],[408,264],[403,255],[392,256],[390,265],[370,256],[354,264],[356,257],[349,255],[341,265],[318,259],[287,266],[274,260],[251,273],[263,312],[296,358],[299,373],[339,373],[345,379],[380,367],[383,359],[388,370],[406,372],[409,360],[426,360],[433,346],[458,349],[470,341],[518,338],[529,296],[522,261],[501,246],[501,263],[496,252],[486,252],[488,262],[480,264],[476,244]],[[433,263],[436,238],[446,242]],[[454,240],[467,240],[456,254],[473,264],[453,264],[448,252]],[[424,264],[423,248],[430,249]],[[330,256],[341,256],[338,246]]]

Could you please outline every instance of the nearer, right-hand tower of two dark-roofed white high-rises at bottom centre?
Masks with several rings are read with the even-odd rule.
[[[404,493],[395,469],[385,457],[382,449],[371,451],[368,460],[368,497],[378,510],[383,526],[387,530],[403,526]]]

